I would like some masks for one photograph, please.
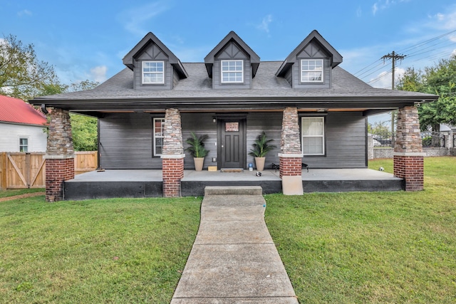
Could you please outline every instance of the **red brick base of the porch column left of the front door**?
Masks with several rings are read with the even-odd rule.
[[[180,180],[184,177],[184,158],[162,156],[163,196],[180,197]]]

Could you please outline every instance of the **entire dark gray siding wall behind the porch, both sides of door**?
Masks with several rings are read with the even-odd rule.
[[[155,115],[155,117],[164,117]],[[161,169],[162,159],[152,157],[152,115],[110,114],[100,121],[100,166],[105,169]],[[217,123],[214,113],[182,113],[182,137],[190,132],[207,134],[209,155],[204,167],[216,165]],[[266,156],[266,168],[278,164],[281,142],[281,112],[251,112],[247,115],[247,153],[252,149],[255,138],[265,131],[273,138],[276,149]],[[185,169],[193,169],[193,158],[185,152]],[[247,164],[254,163],[247,155]],[[366,167],[366,121],[358,112],[330,112],[326,116],[326,157],[304,157],[311,168]],[[246,167],[247,167],[246,164]]]

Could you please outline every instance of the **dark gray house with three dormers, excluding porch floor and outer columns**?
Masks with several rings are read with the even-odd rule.
[[[181,63],[147,33],[123,58],[126,68],[98,88],[33,103],[98,117],[103,169],[162,169],[167,155],[177,155],[171,158],[182,158],[182,166],[192,169],[192,157],[182,151],[190,132],[209,135],[204,167],[246,169],[254,164],[248,155],[252,142],[264,131],[277,146],[266,167],[283,167],[282,158],[291,155],[296,163],[299,159],[300,172],[301,162],[312,168],[367,167],[368,115],[437,98],[363,83],[338,66],[341,54],[317,31],[284,56],[284,61],[260,61],[232,31],[204,62]],[[180,130],[167,139],[170,109],[177,110]],[[288,122],[293,137],[286,133]],[[177,152],[167,147],[170,137],[181,145]]]

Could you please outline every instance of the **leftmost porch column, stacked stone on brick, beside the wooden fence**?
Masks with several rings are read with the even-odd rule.
[[[46,148],[46,201],[63,199],[63,182],[74,178],[74,150],[68,111],[53,109]]]

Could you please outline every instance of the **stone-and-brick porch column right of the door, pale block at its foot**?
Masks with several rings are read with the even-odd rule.
[[[280,149],[280,177],[284,194],[303,194],[302,152],[297,108],[284,110]]]

